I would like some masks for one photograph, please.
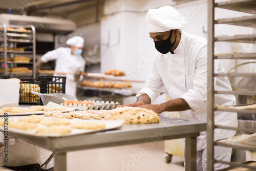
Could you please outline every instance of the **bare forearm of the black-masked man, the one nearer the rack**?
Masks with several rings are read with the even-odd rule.
[[[182,98],[166,101],[160,104],[162,111],[174,112],[174,111],[186,111],[191,109],[187,102]]]

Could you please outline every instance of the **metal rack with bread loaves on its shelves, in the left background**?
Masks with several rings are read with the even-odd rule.
[[[35,63],[36,63],[36,48],[35,48],[35,27],[32,25],[19,26],[19,25],[6,25],[2,23],[0,25],[2,29],[0,29],[0,43],[2,44],[0,52],[4,54],[4,75],[12,75],[19,79],[31,80],[35,79]],[[9,27],[9,28],[8,28]],[[27,30],[19,30],[18,28],[25,28]],[[10,49],[8,49],[10,48]],[[23,50],[19,50],[19,49]],[[15,56],[19,56],[22,54],[23,56],[29,56],[31,58],[31,62],[14,62],[8,61],[7,58],[14,58]],[[31,57],[32,56],[32,57]],[[29,65],[30,69],[28,73],[14,73],[8,72],[8,68],[15,68],[17,66]],[[32,69],[32,70],[31,70]]]

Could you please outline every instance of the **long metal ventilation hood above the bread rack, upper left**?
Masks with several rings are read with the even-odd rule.
[[[76,29],[76,24],[70,19],[39,17],[15,14],[0,14],[0,24],[33,25],[36,32],[67,34]]]

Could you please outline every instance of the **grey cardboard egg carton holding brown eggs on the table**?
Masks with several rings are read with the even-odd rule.
[[[84,110],[84,111],[87,111],[87,110],[102,110],[102,109],[115,109],[117,108],[118,105],[120,105],[120,103],[116,102],[114,103],[114,101],[94,101],[92,100],[93,104],[94,105],[91,105],[91,104],[88,104],[88,106],[86,104],[81,104],[79,103],[78,105],[75,103],[74,105],[72,103],[61,103],[60,105],[64,106],[65,108],[74,108],[74,109],[78,109],[78,110]]]

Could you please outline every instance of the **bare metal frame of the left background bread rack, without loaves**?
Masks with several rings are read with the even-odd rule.
[[[4,57],[5,57],[5,72],[4,74],[7,75],[9,74],[7,72],[7,63],[10,63],[9,61],[7,61],[7,54],[8,53],[17,53],[17,54],[32,54],[32,65],[33,65],[33,73],[32,73],[32,78],[35,79],[36,77],[36,48],[35,48],[35,44],[36,44],[36,40],[35,40],[35,27],[33,25],[26,25],[26,26],[18,26],[18,25],[6,25],[5,23],[2,23],[2,26],[3,26],[3,29],[0,30],[1,32],[3,32],[3,37],[4,37]],[[7,29],[7,26],[8,27],[13,27],[13,28],[18,28],[18,27],[23,27],[25,29],[29,29],[27,31],[20,31],[18,29]],[[13,32],[13,33],[26,33],[26,34],[29,34],[27,36],[11,36],[11,37],[18,37],[18,38],[28,38],[28,39],[24,39],[24,40],[20,40],[20,39],[7,39],[9,37],[9,35],[11,33],[9,32]],[[24,51],[24,52],[19,52],[19,51],[7,51],[7,42],[14,42],[14,43],[20,43],[20,42],[29,42],[29,43],[32,43],[32,52],[31,51]],[[16,62],[17,63],[17,62]],[[31,63],[31,62],[29,62]],[[16,74],[16,73],[15,73]],[[24,74],[24,73],[23,73]],[[30,74],[27,75],[28,77],[31,77]]]

